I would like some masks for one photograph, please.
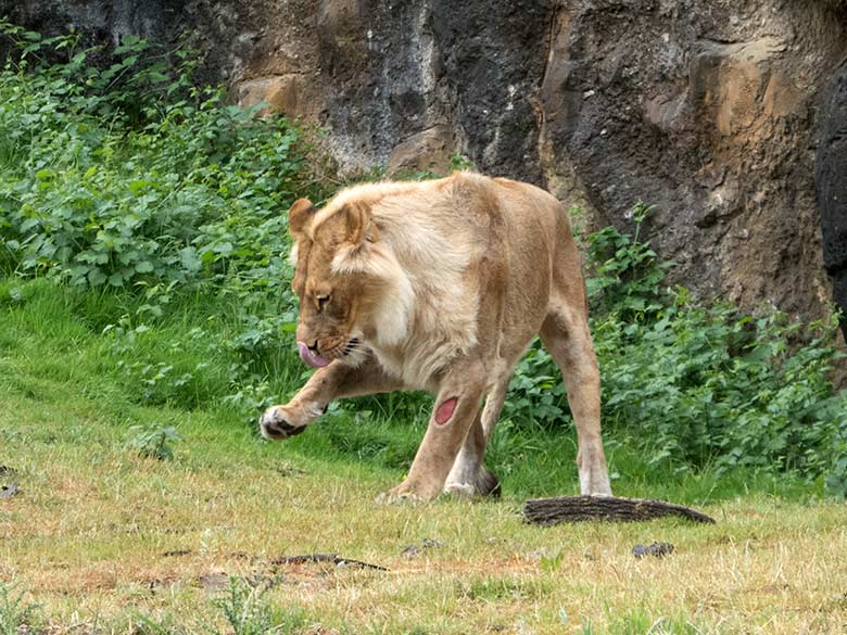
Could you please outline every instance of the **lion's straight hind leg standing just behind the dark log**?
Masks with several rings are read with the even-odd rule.
[[[599,369],[585,313],[554,305],[541,327],[541,341],[561,369],[577,427],[577,466],[583,495],[610,496],[601,439]]]

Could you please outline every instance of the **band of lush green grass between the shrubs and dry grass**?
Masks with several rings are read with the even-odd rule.
[[[16,301],[10,300],[12,289]],[[250,403],[232,405],[232,399],[222,398],[231,392],[226,370],[237,364],[238,356],[214,343],[230,338],[238,325],[219,317],[227,308],[220,303],[186,303],[159,326],[122,339],[103,335],[104,323],[131,307],[108,294],[92,297],[49,280],[7,280],[0,283],[0,299],[5,308],[0,364],[10,368],[5,390],[12,394],[48,403],[73,402],[71,395],[77,394],[105,408],[104,414],[124,428],[151,422],[179,428],[186,411],[195,412],[210,424],[236,428],[264,444],[255,426],[258,410]],[[34,351],[40,354],[33,355]],[[276,351],[269,357],[262,370],[270,372],[271,382],[261,384],[266,394],[257,396],[285,399],[308,371],[293,351]],[[173,370],[156,380],[161,368]],[[184,376],[190,377],[180,381]],[[59,397],[56,391],[66,394]],[[431,399],[410,401],[395,394],[353,404],[347,408],[334,404],[308,434],[285,446],[304,456],[402,472],[417,450]],[[151,406],[165,408],[151,412]],[[796,500],[822,494],[820,483],[791,474],[674,471],[649,461],[625,432],[607,433],[606,446],[621,495],[641,496],[649,490],[656,497],[705,503],[749,491]],[[506,421],[492,440],[488,462],[502,477],[507,494],[570,494],[578,492],[576,452],[572,428],[533,430]]]

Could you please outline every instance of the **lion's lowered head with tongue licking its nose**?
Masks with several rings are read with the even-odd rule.
[[[410,284],[382,243],[368,205],[342,199],[318,211],[300,199],[289,211],[289,228],[303,361],[355,364],[368,342],[393,343],[405,335]]]

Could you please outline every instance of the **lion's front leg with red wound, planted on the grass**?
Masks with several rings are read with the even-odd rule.
[[[388,493],[390,500],[429,500],[441,493],[479,415],[485,385],[483,372],[481,364],[456,365],[447,372],[408,477]]]

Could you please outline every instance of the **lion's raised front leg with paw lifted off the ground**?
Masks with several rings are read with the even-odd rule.
[[[358,366],[333,361],[318,369],[285,405],[270,406],[258,420],[262,436],[282,440],[303,432],[333,399],[390,392],[402,388],[372,356]]]

